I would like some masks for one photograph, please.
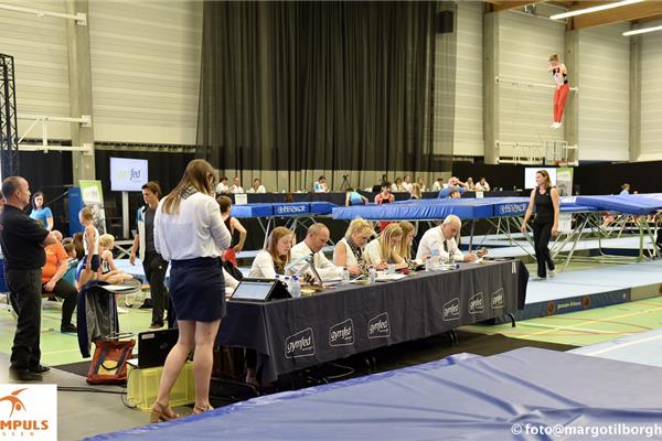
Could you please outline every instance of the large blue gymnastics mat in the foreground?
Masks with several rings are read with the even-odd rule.
[[[662,419],[661,376],[662,368],[530,347],[490,357],[463,354],[93,439],[583,439],[513,431],[526,424],[652,428]]]

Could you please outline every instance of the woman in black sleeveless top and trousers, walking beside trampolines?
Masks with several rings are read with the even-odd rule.
[[[534,280],[546,280],[547,269],[549,277],[554,277],[554,261],[549,255],[549,239],[558,235],[559,202],[558,191],[552,186],[549,173],[540,170],[535,173],[536,187],[531,192],[528,208],[522,222],[522,233],[526,233],[526,223],[535,207],[535,219],[533,220],[533,245],[535,258],[538,263],[537,277]]]

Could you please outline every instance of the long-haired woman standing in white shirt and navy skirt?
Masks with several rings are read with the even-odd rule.
[[[171,420],[170,390],[191,349],[194,351],[195,407],[210,410],[213,345],[225,315],[221,255],[229,247],[229,232],[214,200],[214,170],[201,159],[186,165],[180,183],[159,203],[154,215],[154,247],[170,260],[170,295],[178,319],[179,340],[168,354],[150,422]]]

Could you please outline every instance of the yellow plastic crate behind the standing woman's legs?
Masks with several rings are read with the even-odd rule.
[[[127,365],[127,398],[140,410],[150,410],[161,383],[163,366],[138,369]],[[193,363],[186,362],[180,373],[172,392],[170,394],[170,406],[186,406],[195,402],[195,383],[193,381]]]

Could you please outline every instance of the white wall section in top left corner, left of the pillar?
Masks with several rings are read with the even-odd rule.
[[[64,13],[63,1],[2,0],[4,4]],[[14,57],[17,111],[70,116],[66,24],[62,19],[0,10],[0,53]],[[19,120],[19,137],[32,121]],[[49,126],[52,139],[71,139],[71,126]],[[28,138],[41,138],[41,125]]]

